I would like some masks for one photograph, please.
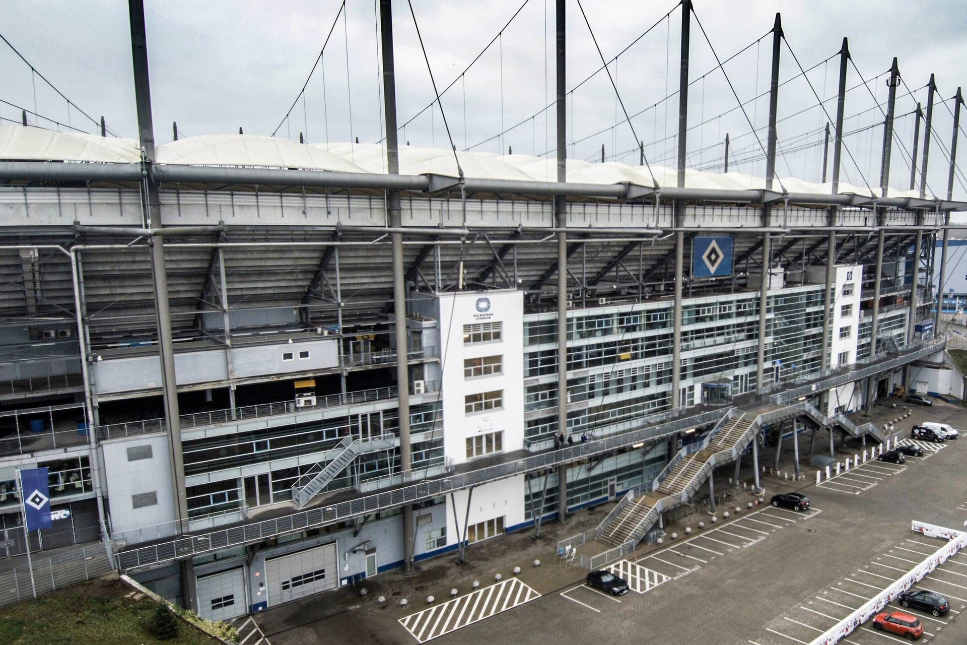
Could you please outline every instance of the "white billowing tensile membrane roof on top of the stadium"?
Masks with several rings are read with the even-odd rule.
[[[554,182],[557,161],[530,155],[494,155],[457,152],[465,177],[476,179]],[[54,132],[40,128],[0,126],[0,161],[100,161],[134,163],[141,160],[133,139],[101,137],[94,134]],[[159,163],[181,165],[248,166],[299,168],[335,172],[386,172],[386,147],[376,143],[294,143],[288,139],[254,134],[206,134],[191,136],[158,146]],[[675,168],[624,163],[589,163],[568,160],[568,182],[575,184],[635,184],[659,188],[678,185]],[[399,149],[399,173],[435,174],[457,177],[454,152],[448,149],[404,146]],[[654,178],[654,179],[653,179]],[[687,170],[686,188],[718,191],[763,190],[765,179],[742,172],[702,172]],[[818,184],[794,177],[777,178],[773,190],[781,192],[830,194],[830,183]],[[840,183],[842,194],[880,196],[879,188]],[[920,196],[918,191],[890,189],[890,197]],[[933,198],[928,195],[927,198]]]

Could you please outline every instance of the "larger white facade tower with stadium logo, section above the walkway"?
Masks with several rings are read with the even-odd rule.
[[[524,447],[523,292],[459,292],[440,297],[440,343],[443,368],[444,452],[462,463],[468,458],[468,439],[502,433],[500,451]],[[472,325],[500,323],[500,339],[472,342],[464,338]],[[466,340],[466,341],[465,341]],[[501,357],[500,373],[464,377],[464,361]],[[466,397],[501,393],[499,406],[467,412]]]

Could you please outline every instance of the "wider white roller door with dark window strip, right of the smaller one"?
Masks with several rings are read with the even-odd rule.
[[[269,604],[294,601],[339,586],[336,542],[265,560]]]

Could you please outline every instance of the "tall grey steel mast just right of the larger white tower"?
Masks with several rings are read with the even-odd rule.
[[[567,21],[565,0],[557,0],[555,17],[555,58],[557,86],[557,182],[568,181],[567,112]],[[554,222],[568,227],[568,201],[563,194],[554,198]],[[563,441],[568,432],[568,233],[557,236],[557,430]],[[564,445],[562,444],[562,448]],[[568,517],[568,467],[557,469],[557,518]]]

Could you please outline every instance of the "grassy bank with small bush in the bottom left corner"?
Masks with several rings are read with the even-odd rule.
[[[178,637],[158,640],[143,627],[155,601],[125,598],[119,580],[90,580],[0,609],[0,645],[218,645],[179,620]]]

